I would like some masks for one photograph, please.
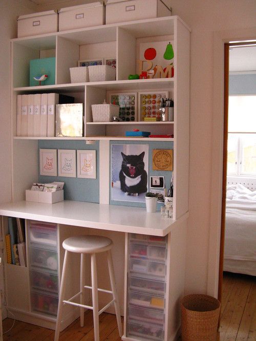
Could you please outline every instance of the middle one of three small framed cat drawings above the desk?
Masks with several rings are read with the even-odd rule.
[[[58,149],[58,176],[76,178],[76,151]]]

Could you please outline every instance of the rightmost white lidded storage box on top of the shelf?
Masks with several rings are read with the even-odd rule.
[[[168,16],[171,13],[162,0],[106,1],[106,24]]]

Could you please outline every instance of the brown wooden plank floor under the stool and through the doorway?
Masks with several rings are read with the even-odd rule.
[[[100,341],[119,341],[115,315],[102,313],[100,316]],[[13,320],[6,318],[4,331],[12,326]],[[60,341],[94,341],[92,312],[86,312],[84,327],[74,321],[60,333]],[[4,341],[52,341],[54,331],[28,323],[16,321],[14,327],[4,334]],[[256,340],[256,278],[247,275],[224,273],[221,307],[220,341]]]

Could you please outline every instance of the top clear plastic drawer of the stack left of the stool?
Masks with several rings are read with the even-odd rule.
[[[29,240],[30,243],[44,244],[57,248],[57,225],[30,221]]]

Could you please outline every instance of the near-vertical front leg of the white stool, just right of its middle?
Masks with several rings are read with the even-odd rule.
[[[96,254],[91,254],[94,341],[99,341],[99,303]]]

